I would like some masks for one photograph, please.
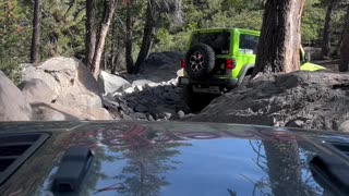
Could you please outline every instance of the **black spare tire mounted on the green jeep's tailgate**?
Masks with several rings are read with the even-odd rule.
[[[205,79],[212,76],[215,68],[215,51],[205,44],[194,45],[185,57],[185,72],[193,79]]]

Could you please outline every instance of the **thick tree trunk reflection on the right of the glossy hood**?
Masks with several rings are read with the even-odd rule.
[[[256,189],[267,195],[264,193],[266,187],[269,187],[276,196],[322,194],[323,191],[314,182],[308,169],[306,159],[313,156],[312,151],[300,148],[296,140],[253,140],[250,144],[257,156],[254,161],[267,174],[258,182],[254,182],[253,195]]]

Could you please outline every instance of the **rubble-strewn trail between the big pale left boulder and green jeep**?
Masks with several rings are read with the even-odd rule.
[[[101,73],[104,105],[115,119],[179,120],[191,112],[177,86],[183,54],[152,53],[139,75]],[[118,83],[115,83],[118,81]]]

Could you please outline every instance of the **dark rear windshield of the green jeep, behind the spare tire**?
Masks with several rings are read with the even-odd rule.
[[[198,42],[210,46],[216,54],[228,54],[230,33],[194,34],[192,37],[192,46]]]

